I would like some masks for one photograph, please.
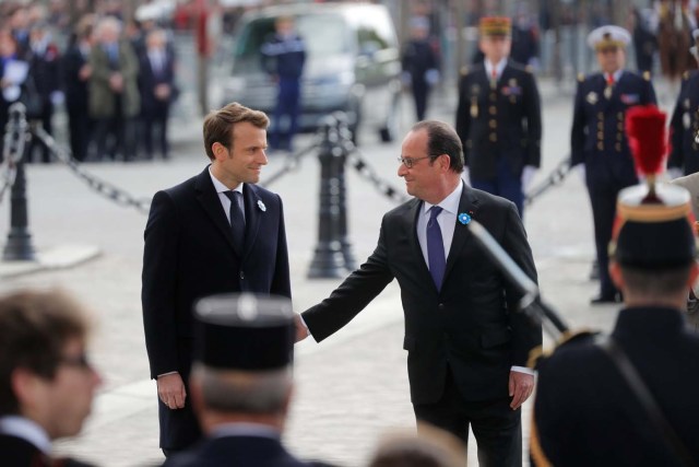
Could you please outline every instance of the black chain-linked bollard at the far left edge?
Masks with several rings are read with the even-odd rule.
[[[10,157],[10,161],[16,161],[16,172],[10,191],[10,232],[8,233],[8,243],[2,252],[2,259],[5,261],[33,261],[36,259],[28,229],[26,177],[24,175],[25,149],[28,148],[28,144],[25,144],[25,138],[29,135],[26,127],[24,104],[12,104],[5,130],[5,157]]]

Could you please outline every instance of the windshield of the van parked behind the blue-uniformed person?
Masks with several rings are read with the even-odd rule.
[[[296,16],[296,32],[304,38],[309,58],[348,54],[352,42],[347,25],[337,14],[308,14]],[[261,69],[260,49],[274,35],[274,19],[251,21],[240,33],[236,44],[236,68]]]

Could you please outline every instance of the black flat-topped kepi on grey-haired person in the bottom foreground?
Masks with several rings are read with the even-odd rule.
[[[220,370],[270,371],[293,361],[292,301],[275,295],[218,294],[194,304],[194,361]]]

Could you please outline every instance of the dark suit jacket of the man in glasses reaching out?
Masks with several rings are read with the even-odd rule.
[[[405,314],[413,402],[429,404],[441,396],[448,365],[466,399],[507,397],[510,366],[526,365],[529,351],[541,345],[541,327],[516,312],[520,293],[461,223],[454,230],[441,291],[437,291],[417,240],[422,207],[420,200],[413,199],[388,212],[371,256],[328,299],[306,311],[304,320],[320,341],[347,324],[395,278]],[[536,279],[512,202],[464,185],[459,212],[481,222]]]

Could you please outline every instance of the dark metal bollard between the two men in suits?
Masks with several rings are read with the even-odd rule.
[[[318,207],[318,245],[308,277],[341,278],[346,273],[345,258],[340,242],[340,182],[343,164],[337,120],[327,116],[321,122],[323,140],[320,143],[320,199]]]

